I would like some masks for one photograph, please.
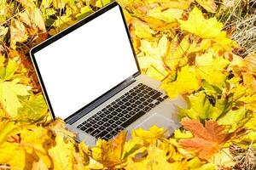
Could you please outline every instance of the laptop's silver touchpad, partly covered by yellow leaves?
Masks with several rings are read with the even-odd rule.
[[[138,124],[135,129],[142,127],[143,129],[149,129],[152,126],[163,127],[166,129],[166,136],[171,136],[175,129],[179,126],[174,123],[171,119],[166,118],[165,116],[160,115],[159,113],[154,113],[149,116],[145,121]]]

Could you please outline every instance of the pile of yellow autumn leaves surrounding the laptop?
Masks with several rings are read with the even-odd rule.
[[[154,126],[78,144],[50,120],[28,51],[110,2],[0,0],[0,169],[255,169],[256,56],[240,56],[217,20],[230,3],[118,2],[143,73],[187,101],[183,126],[169,139]]]

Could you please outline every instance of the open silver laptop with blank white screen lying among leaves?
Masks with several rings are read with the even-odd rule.
[[[168,99],[160,82],[140,71],[125,17],[113,2],[30,51],[53,119],[88,145],[112,139],[119,131],[179,123],[181,97]]]

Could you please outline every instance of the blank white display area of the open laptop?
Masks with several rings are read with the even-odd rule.
[[[34,54],[55,116],[66,119],[135,74],[119,6]]]

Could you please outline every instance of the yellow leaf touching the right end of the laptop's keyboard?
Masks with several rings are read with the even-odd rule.
[[[181,71],[177,72],[177,80],[169,82],[168,79],[161,85],[170,98],[177,97],[178,94],[191,94],[201,88],[201,79],[196,77],[195,69],[185,65]]]

